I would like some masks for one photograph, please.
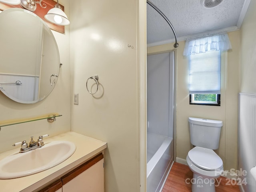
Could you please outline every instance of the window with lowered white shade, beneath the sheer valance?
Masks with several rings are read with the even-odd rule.
[[[190,104],[220,106],[220,55],[210,51],[189,56]]]

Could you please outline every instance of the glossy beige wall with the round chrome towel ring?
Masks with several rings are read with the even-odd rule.
[[[138,3],[75,0],[70,4],[71,92],[79,94],[79,105],[71,106],[72,131],[108,143],[106,192],[140,190]],[[142,6],[145,10],[145,1]],[[96,74],[100,85],[91,95],[86,80]],[[93,83],[89,80],[88,87]]]

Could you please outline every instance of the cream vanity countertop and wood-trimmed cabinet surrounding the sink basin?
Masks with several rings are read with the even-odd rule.
[[[104,150],[107,143],[75,132],[47,138],[44,143],[56,141],[72,142],[76,151],[64,162],[42,172],[15,179],[0,179],[0,191],[62,192],[62,186],[66,185],[63,188],[71,186],[69,192],[76,192],[81,184],[82,192],[104,192]],[[0,153],[0,160],[17,154],[19,150],[15,148]],[[79,180],[78,184],[76,180]]]

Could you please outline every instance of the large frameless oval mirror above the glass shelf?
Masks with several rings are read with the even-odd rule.
[[[50,28],[21,8],[1,12],[0,26],[0,90],[20,103],[43,100],[54,89],[60,70]]]

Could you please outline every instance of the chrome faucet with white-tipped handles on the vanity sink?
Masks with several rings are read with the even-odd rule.
[[[33,136],[30,137],[30,142],[27,144],[27,142],[24,140],[22,142],[14,143],[12,146],[16,146],[21,144],[20,153],[28,152],[36,148],[40,148],[44,146],[43,138],[49,136],[48,134],[39,136],[37,141],[33,140]]]

